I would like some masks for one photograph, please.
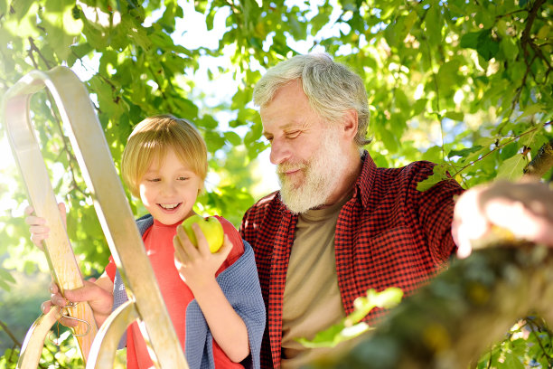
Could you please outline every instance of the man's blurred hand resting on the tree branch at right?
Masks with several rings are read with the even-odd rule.
[[[475,186],[457,200],[452,232],[460,258],[489,237],[553,247],[553,191],[539,182]]]

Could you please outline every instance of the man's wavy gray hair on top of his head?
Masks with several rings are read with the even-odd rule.
[[[358,130],[355,143],[363,147],[370,142],[366,138],[369,104],[363,81],[358,74],[333,61],[327,53],[296,55],[268,69],[254,89],[254,104],[264,107],[272,101],[278,89],[293,80],[302,81],[309,104],[330,123],[342,119],[347,110],[356,110]]]

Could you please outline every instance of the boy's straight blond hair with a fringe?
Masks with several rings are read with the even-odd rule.
[[[140,197],[140,180],[152,162],[162,160],[170,148],[202,181],[205,180],[207,148],[198,130],[185,119],[158,115],[138,123],[123,150],[121,175],[131,194]]]

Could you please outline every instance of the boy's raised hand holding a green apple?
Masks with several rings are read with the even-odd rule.
[[[173,246],[174,264],[192,292],[216,283],[215,273],[232,250],[217,218],[200,215],[192,215],[177,227]]]

